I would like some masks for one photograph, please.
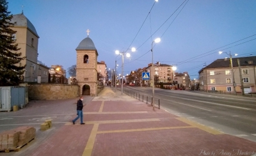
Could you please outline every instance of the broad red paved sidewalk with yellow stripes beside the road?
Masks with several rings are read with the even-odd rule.
[[[74,110],[72,110],[74,111]],[[253,155],[256,143],[223,134],[106,87],[31,155]],[[54,126],[54,125],[53,125]],[[253,153],[254,152],[254,153]],[[256,155],[256,154],[255,154]]]

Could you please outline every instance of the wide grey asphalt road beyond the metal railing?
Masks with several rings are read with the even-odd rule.
[[[152,96],[152,88],[124,86],[124,90]],[[159,88],[155,98],[172,114],[256,142],[256,98]]]

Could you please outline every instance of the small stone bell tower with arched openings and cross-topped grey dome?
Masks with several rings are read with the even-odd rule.
[[[84,38],[76,48],[76,77],[79,85],[80,95],[97,96],[97,49],[91,38],[89,29]]]

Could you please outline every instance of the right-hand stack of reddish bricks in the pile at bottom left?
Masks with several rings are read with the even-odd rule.
[[[36,129],[34,127],[19,127],[18,130],[20,131],[18,146],[23,146],[36,137]]]

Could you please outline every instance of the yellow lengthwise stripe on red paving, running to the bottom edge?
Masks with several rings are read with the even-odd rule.
[[[97,135],[98,128],[99,128],[99,123],[96,123],[96,124],[93,125],[92,132],[91,132],[91,134],[89,136],[89,139],[86,143],[86,146],[84,148],[83,156],[92,155],[93,145],[94,145],[94,142],[95,142],[95,138],[96,138],[96,135]]]

